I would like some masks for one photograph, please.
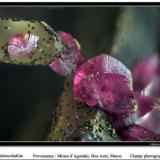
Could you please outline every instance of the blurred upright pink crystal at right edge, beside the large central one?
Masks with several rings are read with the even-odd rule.
[[[141,116],[152,110],[160,96],[160,67],[158,57],[151,55],[140,61],[134,71],[134,92]]]

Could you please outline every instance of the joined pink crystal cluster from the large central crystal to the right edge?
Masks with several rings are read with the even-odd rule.
[[[132,78],[121,62],[102,54],[76,71],[74,97],[108,113],[123,140],[157,141],[160,140],[159,72],[155,55],[139,62]]]

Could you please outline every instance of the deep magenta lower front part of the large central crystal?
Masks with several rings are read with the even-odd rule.
[[[100,106],[109,113],[129,114],[134,109],[134,96],[123,75],[99,73],[86,77],[76,86],[74,97],[89,106]]]

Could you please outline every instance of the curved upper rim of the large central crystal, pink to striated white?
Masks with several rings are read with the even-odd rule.
[[[75,73],[74,76],[74,95],[77,96],[77,87],[81,80],[86,77],[94,76],[95,73],[114,73],[119,75],[124,75],[129,80],[130,88],[132,89],[132,76],[131,72],[127,67],[125,67],[120,61],[115,58],[101,54],[88,60],[86,63],[81,65]]]

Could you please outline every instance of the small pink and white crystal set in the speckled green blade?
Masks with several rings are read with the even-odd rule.
[[[12,56],[30,56],[37,49],[38,36],[32,34],[17,34],[8,42],[8,53]]]

